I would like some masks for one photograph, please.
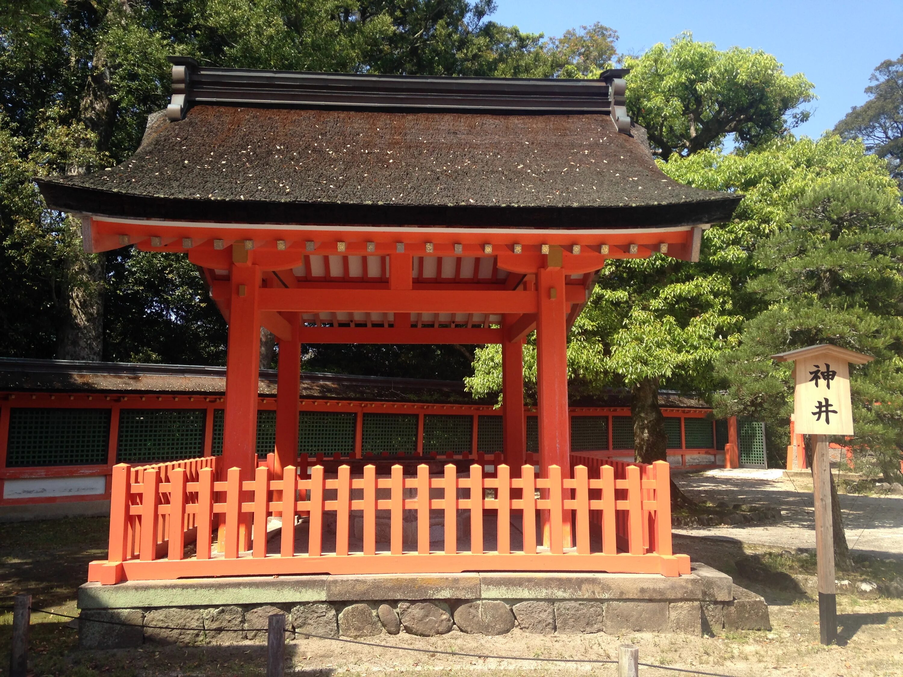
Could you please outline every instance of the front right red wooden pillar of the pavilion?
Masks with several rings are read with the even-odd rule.
[[[554,259],[558,260],[555,261]],[[549,477],[549,467],[561,468],[562,477],[571,477],[570,437],[567,403],[567,313],[561,251],[548,256],[549,265],[536,275],[536,394],[539,423],[539,466],[541,477]],[[554,265],[557,264],[557,265]],[[570,497],[570,490],[564,498]],[[571,547],[571,511],[563,511],[563,547]],[[557,526],[557,525],[556,525]],[[550,543],[549,515],[543,515],[544,543]]]

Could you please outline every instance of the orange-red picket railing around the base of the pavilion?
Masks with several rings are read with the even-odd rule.
[[[371,465],[362,478],[351,478],[348,466],[335,478],[326,478],[322,466],[311,468],[310,478],[289,467],[284,479],[273,479],[262,466],[244,482],[238,468],[218,481],[211,466],[191,478],[194,468],[122,464],[113,475],[109,556],[91,562],[88,580],[464,570],[689,573],[689,558],[671,550],[668,464],[587,460],[591,468],[577,465],[570,479],[557,466],[548,478],[537,478],[532,465],[511,478],[505,465],[488,477],[479,465],[458,474],[449,464],[442,475],[420,465],[406,477],[400,465],[386,477],[377,477]],[[268,543],[266,524],[277,515],[292,526]],[[222,543],[213,538],[215,519]],[[544,519],[547,548],[537,533]],[[193,555],[185,552],[189,524]],[[564,547],[565,524],[573,530],[573,547]],[[246,530],[253,534],[247,545]]]

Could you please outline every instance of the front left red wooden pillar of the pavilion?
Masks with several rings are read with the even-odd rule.
[[[226,356],[226,411],[223,421],[223,474],[240,468],[242,481],[254,478],[257,391],[260,379],[260,269],[233,264]],[[250,520],[239,522],[239,550],[250,549]]]

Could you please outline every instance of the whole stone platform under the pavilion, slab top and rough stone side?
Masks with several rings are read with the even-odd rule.
[[[266,619],[279,611],[289,616],[289,641],[453,629],[504,635],[515,627],[537,635],[770,629],[764,599],[695,563],[679,578],[486,572],[86,583],[79,608],[86,649],[265,643]]]

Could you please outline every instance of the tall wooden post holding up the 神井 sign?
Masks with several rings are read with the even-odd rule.
[[[812,479],[815,498],[815,555],[818,567],[818,621],[822,644],[830,645],[837,639],[831,458],[827,435],[813,435],[812,443],[815,447]]]

